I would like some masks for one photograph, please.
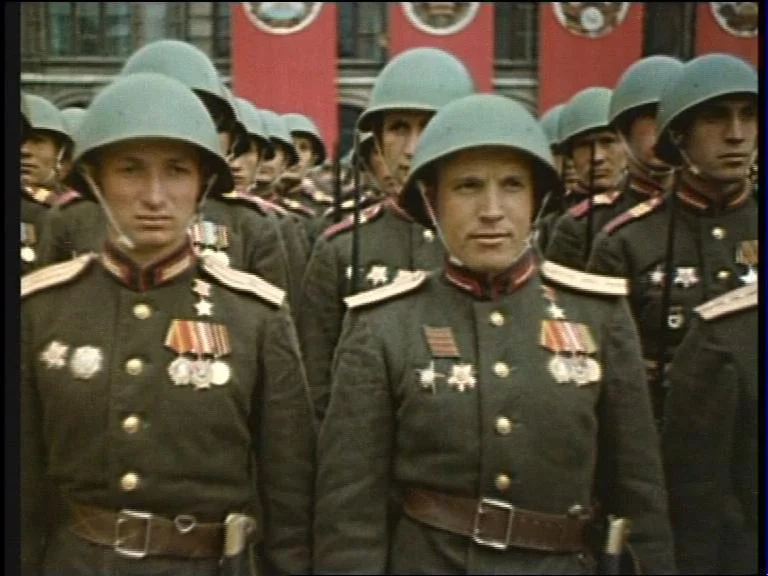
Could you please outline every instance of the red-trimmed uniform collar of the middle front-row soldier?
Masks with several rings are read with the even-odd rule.
[[[468,270],[451,257],[446,257],[443,275],[459,290],[469,292],[478,300],[497,300],[525,284],[536,268],[533,248],[528,247],[509,268],[495,276]]]

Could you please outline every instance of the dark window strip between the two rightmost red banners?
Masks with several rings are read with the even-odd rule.
[[[698,2],[646,2],[643,56],[693,56]]]

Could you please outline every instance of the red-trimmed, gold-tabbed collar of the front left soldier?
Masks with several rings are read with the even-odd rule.
[[[143,268],[109,241],[106,242],[99,258],[107,272],[121,284],[137,292],[146,292],[167,284],[197,263],[191,242],[185,242],[173,254]]]

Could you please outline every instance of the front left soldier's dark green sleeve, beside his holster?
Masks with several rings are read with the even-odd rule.
[[[257,474],[267,560],[280,574],[308,574],[315,427],[296,332],[285,310],[267,323],[260,366]]]

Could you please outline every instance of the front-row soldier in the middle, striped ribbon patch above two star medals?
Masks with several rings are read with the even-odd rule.
[[[642,573],[674,569],[626,283],[531,246],[557,181],[538,122],[508,98],[457,100],[425,129],[402,198],[450,257],[347,298],[316,573],[593,573],[597,503],[632,522]]]

